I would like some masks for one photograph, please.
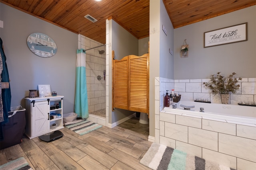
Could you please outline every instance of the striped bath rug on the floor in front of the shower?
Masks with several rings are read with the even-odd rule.
[[[84,135],[86,133],[89,133],[91,131],[94,131],[94,130],[102,127],[102,125],[93,123],[86,119],[80,119],[80,120],[76,120],[76,121],[73,121],[70,123],[65,123],[65,127],[78,133],[79,135]]]

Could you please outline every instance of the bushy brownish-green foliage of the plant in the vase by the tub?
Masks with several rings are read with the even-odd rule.
[[[211,75],[210,82],[204,82],[203,84],[212,91],[214,96],[216,94],[236,94],[240,87],[237,84],[238,80],[242,80],[242,78],[234,78],[235,75],[236,73],[232,72],[228,77],[224,77],[220,75],[220,72],[217,72],[217,74]]]

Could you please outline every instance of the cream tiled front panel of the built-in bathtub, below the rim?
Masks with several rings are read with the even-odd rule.
[[[159,115],[159,142],[234,169],[255,169],[256,125],[220,118],[164,109]]]

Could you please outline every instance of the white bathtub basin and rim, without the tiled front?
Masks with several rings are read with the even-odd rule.
[[[254,106],[240,106],[229,104],[213,104],[203,102],[189,102],[180,101],[175,103],[177,108],[164,107],[165,113],[172,113],[184,116],[198,117],[202,119],[216,119],[219,121],[226,121],[228,123],[236,124],[254,124],[256,125],[256,107]],[[184,109],[180,105],[194,106],[190,110]],[[204,108],[204,112],[200,112],[200,107]]]

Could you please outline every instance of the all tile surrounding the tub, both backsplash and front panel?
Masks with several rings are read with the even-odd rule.
[[[256,78],[243,78],[240,92],[234,94],[234,96],[232,94],[230,95],[231,104],[233,103],[234,105],[225,106],[233,107],[235,104],[237,105],[238,102],[234,99],[238,101],[245,99],[255,101],[255,80]],[[187,84],[188,82],[197,85]],[[204,81],[155,78],[155,142],[218,162],[234,169],[256,169],[255,123],[241,123],[226,121],[226,119],[217,119],[216,117],[208,118],[202,115],[188,115],[188,112],[193,111],[181,109],[164,110],[163,99],[165,90],[166,88],[169,90],[174,87],[176,92],[182,94],[181,101],[193,101],[194,98],[206,98],[205,96],[208,96],[212,104],[221,103],[218,97],[213,97],[208,90],[206,91],[202,82]],[[195,87],[194,90],[192,86]],[[238,107],[250,107],[254,109],[254,112],[256,109],[256,107],[252,106]],[[178,111],[184,113],[177,113]]]

